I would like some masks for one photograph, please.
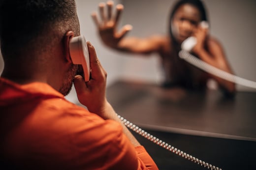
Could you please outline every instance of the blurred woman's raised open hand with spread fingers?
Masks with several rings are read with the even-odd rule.
[[[105,45],[118,48],[118,43],[122,38],[131,30],[130,25],[124,26],[120,32],[117,31],[117,24],[120,19],[120,15],[124,9],[122,4],[116,5],[116,14],[115,16],[112,13],[113,1],[107,1],[107,5],[103,2],[99,3],[99,15],[101,18],[101,22],[99,22],[97,13],[93,12],[92,17],[98,28],[99,35]],[[105,14],[105,8],[107,6],[107,15]]]

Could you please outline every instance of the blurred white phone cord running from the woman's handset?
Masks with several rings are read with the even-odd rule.
[[[244,85],[244,86],[248,86],[248,87],[252,87],[252,88],[256,88],[256,82],[247,80],[247,79],[243,79],[240,78],[238,76],[232,75],[230,73],[227,73],[221,69],[218,69],[196,57],[194,57],[193,55],[191,55],[189,52],[185,51],[185,50],[181,50],[179,52],[179,57],[181,57],[182,59],[186,60],[187,62],[191,63],[192,65],[208,72],[211,73],[215,76],[218,76],[224,80],[233,82],[235,84],[239,84],[239,85]]]

